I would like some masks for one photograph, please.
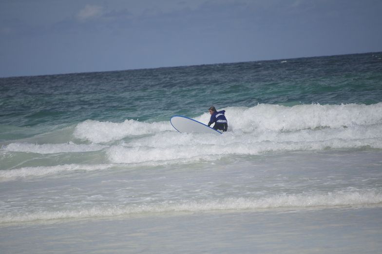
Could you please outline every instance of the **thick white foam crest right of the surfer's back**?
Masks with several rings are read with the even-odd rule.
[[[354,125],[382,124],[382,102],[372,105],[281,105],[229,107],[226,116],[232,130],[243,132],[296,131],[316,128],[342,128]]]

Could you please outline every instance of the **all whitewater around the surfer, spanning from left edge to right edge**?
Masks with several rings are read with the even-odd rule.
[[[329,149],[382,149],[382,103],[373,105],[296,105],[292,107],[259,104],[254,107],[227,107],[229,132],[222,137],[178,133],[169,121],[121,123],[86,120],[67,127],[65,143],[42,143],[44,135],[3,144],[0,180],[22,176],[42,176],[52,172],[104,169],[105,165],[47,165],[24,167],[32,154],[65,157],[97,152],[105,157],[106,168],[158,166],[214,161],[222,156],[264,155],[270,152],[322,151]],[[251,117],[248,117],[251,116]],[[195,117],[208,122],[204,113]],[[47,136],[61,135],[50,132]],[[61,136],[62,138],[62,136]],[[10,156],[16,152],[19,156]],[[91,154],[91,153],[90,153]],[[95,154],[95,153],[93,153]],[[68,161],[69,162],[69,161]],[[18,165],[13,169],[14,165]]]

